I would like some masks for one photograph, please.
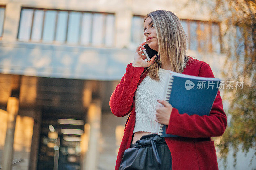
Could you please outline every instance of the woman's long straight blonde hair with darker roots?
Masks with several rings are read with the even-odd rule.
[[[158,69],[161,63],[171,63],[172,71],[182,73],[189,57],[186,55],[187,37],[179,18],[174,13],[165,10],[150,12],[144,18],[144,22],[148,17],[152,19],[156,29],[158,55],[143,74],[148,71],[152,79],[159,80]]]

